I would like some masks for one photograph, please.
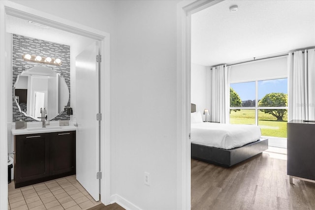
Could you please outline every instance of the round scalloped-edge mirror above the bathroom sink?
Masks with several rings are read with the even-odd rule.
[[[46,108],[44,117],[52,120],[63,113],[69,90],[59,73],[46,66],[34,66],[18,75],[13,97],[25,116],[40,121],[40,110]]]

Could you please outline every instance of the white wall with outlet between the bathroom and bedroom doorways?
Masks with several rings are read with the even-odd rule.
[[[111,191],[144,210],[176,209],[177,2],[117,1]]]

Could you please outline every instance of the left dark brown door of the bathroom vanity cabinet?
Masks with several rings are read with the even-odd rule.
[[[32,184],[32,180],[49,176],[49,144],[46,134],[19,135],[14,137],[14,141],[15,186],[22,186],[21,182]]]

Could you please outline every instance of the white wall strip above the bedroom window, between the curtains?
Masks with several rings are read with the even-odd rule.
[[[231,66],[230,83],[287,77],[287,57]]]

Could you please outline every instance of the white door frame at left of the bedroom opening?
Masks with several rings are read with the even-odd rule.
[[[183,0],[177,4],[177,209],[191,207],[190,83],[191,14],[222,0]]]

